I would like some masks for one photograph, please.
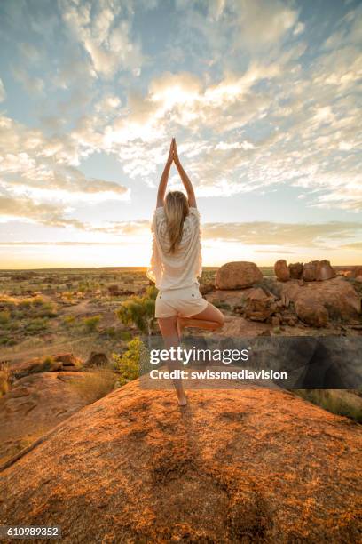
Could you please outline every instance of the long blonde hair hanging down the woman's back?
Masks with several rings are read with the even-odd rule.
[[[169,253],[176,253],[184,231],[184,220],[189,214],[187,198],[181,191],[169,191],[164,208],[169,230]]]

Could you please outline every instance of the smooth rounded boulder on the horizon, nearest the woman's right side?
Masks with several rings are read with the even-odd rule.
[[[261,282],[263,274],[255,262],[228,262],[218,268],[216,289],[244,289]]]

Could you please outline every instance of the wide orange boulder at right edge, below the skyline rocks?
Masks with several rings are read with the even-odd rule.
[[[361,298],[341,276],[303,285],[290,281],[283,284],[282,292],[295,303],[297,316],[311,326],[323,326],[329,319],[348,322],[360,316]]]

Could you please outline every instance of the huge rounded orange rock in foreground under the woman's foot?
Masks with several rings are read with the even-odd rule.
[[[292,393],[134,381],[2,470],[2,524],[62,542],[357,542],[362,429]]]

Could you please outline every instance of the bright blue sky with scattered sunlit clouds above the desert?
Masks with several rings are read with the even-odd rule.
[[[205,266],[362,264],[361,83],[358,0],[2,0],[0,268],[147,266],[172,137]]]

